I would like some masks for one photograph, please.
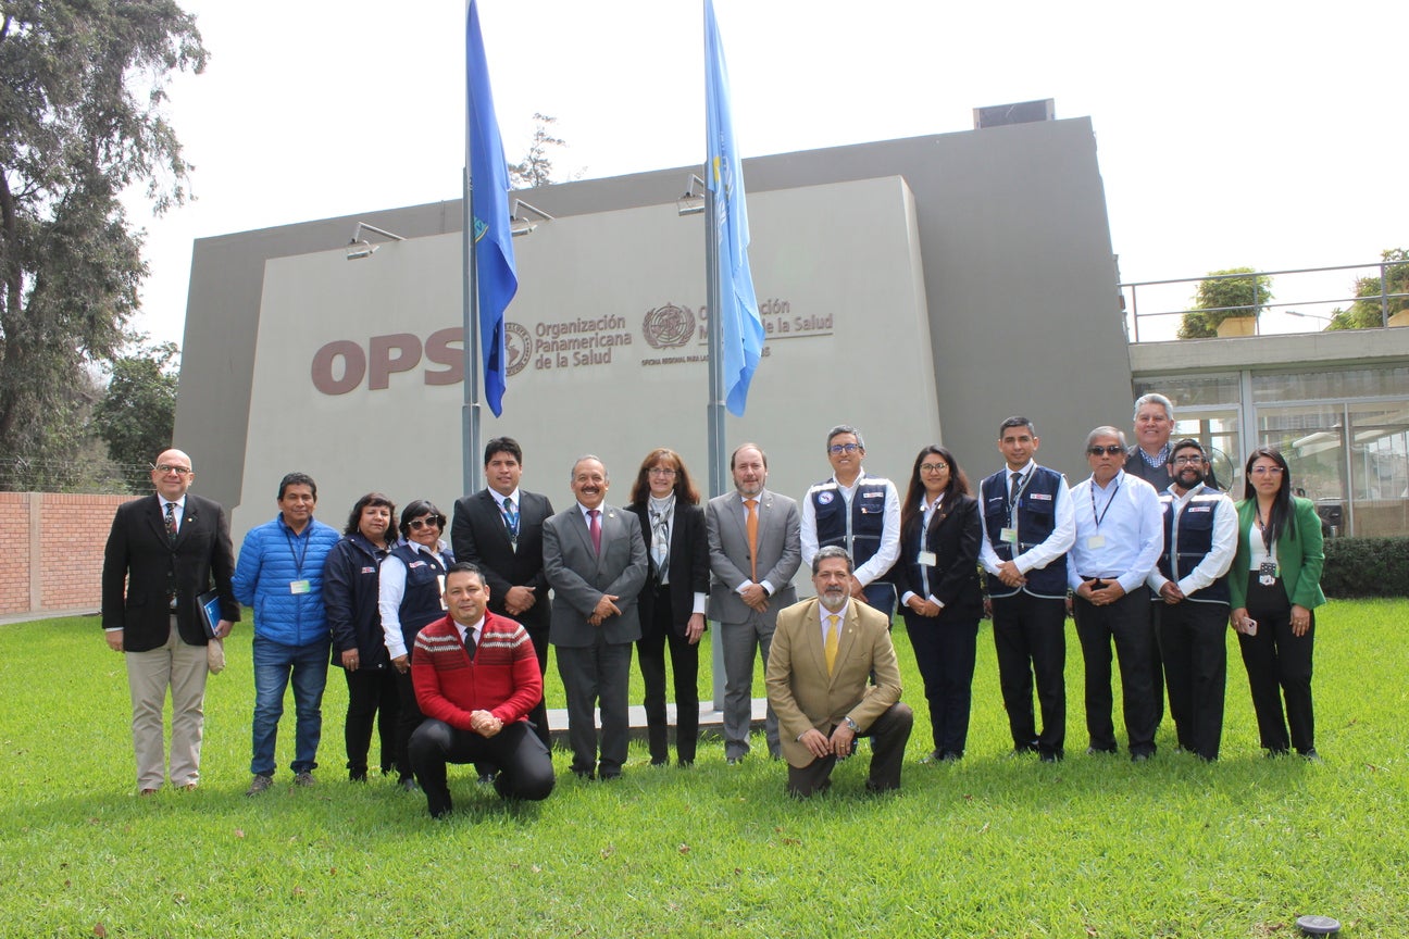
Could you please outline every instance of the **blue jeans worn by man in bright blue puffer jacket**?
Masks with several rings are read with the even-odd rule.
[[[293,736],[294,773],[311,771],[318,763],[323,736],[323,687],[328,683],[331,638],[306,646],[286,646],[255,634],[255,719],[254,759],[249,771],[273,776],[273,748],[283,717],[283,691],[293,677],[293,707],[297,717]]]

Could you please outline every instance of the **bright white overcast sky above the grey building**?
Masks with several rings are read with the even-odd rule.
[[[702,0],[479,3],[510,160],[534,111],[559,120],[564,175],[703,160]],[[168,108],[197,201],[132,213],[152,272],[137,325],[176,342],[193,239],[457,198],[464,165],[458,0],[183,6],[211,53]],[[716,8],[745,158],[964,131],[976,106],[1053,97],[1092,120],[1127,282],[1409,246],[1409,3]]]

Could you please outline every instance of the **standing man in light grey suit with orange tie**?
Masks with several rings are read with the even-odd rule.
[[[738,763],[748,753],[752,715],[754,656],[768,662],[778,611],[797,601],[792,586],[802,563],[802,515],[797,503],[764,489],[768,455],[744,443],[728,460],[734,490],[709,501],[709,615],[720,624],[724,645],[724,757]],[[768,752],[781,755],[778,715],[768,708]]]

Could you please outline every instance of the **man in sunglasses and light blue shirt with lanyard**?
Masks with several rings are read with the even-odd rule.
[[[1154,486],[1126,473],[1126,435],[1098,427],[1086,436],[1091,477],[1071,490],[1076,541],[1067,563],[1076,636],[1086,663],[1086,753],[1115,753],[1110,718],[1110,645],[1120,687],[1130,759],[1154,756],[1160,726],[1153,684],[1154,625],[1146,577],[1160,559],[1164,519]]]

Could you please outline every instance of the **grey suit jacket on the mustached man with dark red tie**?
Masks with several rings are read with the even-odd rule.
[[[542,572],[554,591],[548,642],[590,646],[600,631],[607,642],[635,642],[641,621],[635,597],[645,586],[647,553],[635,515],[602,504],[602,555],[592,550],[588,519],[573,501],[542,524]],[[588,622],[603,594],[614,594],[620,617]]]

